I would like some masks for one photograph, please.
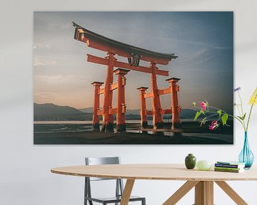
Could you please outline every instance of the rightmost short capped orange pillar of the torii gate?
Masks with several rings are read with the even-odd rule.
[[[178,91],[179,85],[177,85],[180,78],[169,78],[168,83],[171,83],[171,111],[172,111],[172,125],[171,129],[181,128],[181,120],[179,114],[181,113],[181,106],[178,105]]]

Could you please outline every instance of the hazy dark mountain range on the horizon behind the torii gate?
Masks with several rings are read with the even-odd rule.
[[[92,112],[93,107],[76,109],[74,107],[54,105],[52,103],[34,103],[34,121],[92,120]],[[196,111],[191,109],[183,109],[181,112],[181,118],[193,119],[195,115]],[[163,115],[163,118],[168,119],[170,115]],[[126,120],[140,119],[140,110],[126,110]]]

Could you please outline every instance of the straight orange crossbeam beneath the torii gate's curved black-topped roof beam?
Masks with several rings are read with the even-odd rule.
[[[106,58],[101,58],[98,56],[93,56],[91,54],[87,54],[87,61],[91,63],[98,63],[101,65],[108,65],[108,60]],[[114,61],[114,67],[117,68],[126,68],[129,70],[135,70],[143,73],[151,73],[151,69],[144,67],[144,66],[131,66],[129,63],[124,63],[120,61]],[[168,76],[168,71],[167,70],[156,70],[157,75],[163,75],[163,76]]]

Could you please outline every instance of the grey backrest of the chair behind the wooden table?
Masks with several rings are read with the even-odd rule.
[[[86,157],[86,165],[120,164],[120,157]],[[90,177],[90,181],[111,180],[107,178]]]

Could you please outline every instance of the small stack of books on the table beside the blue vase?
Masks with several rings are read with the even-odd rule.
[[[243,162],[216,162],[214,170],[216,172],[244,172],[245,163]]]

